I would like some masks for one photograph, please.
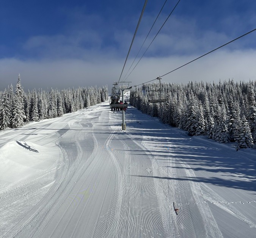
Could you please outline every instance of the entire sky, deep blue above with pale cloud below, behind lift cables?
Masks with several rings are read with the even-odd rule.
[[[164,2],[148,1],[123,76]],[[167,0],[144,50],[176,2]],[[0,90],[15,85],[19,73],[25,90],[111,86],[121,74],[143,5],[144,0],[3,1]],[[127,80],[132,85],[151,80],[253,30],[255,9],[254,0],[181,0]],[[255,42],[253,32],[163,81],[256,80]]]

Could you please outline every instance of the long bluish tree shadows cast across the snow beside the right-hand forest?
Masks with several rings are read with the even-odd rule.
[[[132,110],[137,109],[132,108]],[[129,143],[129,150],[126,153],[139,155],[137,158],[141,159],[159,160],[166,169],[175,168],[184,171],[191,169],[195,172],[195,175],[200,172],[200,177],[175,178],[171,176],[141,175],[138,175],[138,177],[193,181],[256,191],[256,162],[250,160],[242,151],[240,153],[236,152],[233,148],[213,143],[210,139],[202,141],[194,139],[177,128],[160,122],[152,123],[152,117],[146,114],[137,111],[135,111],[135,114],[128,114],[126,120],[127,124],[129,123],[130,127],[133,127],[127,133],[130,138],[127,136],[117,138],[122,139],[126,144]],[[141,119],[140,123],[137,122],[138,117]],[[135,118],[137,121],[135,121]],[[143,147],[138,147],[135,143],[132,143],[133,140],[143,141],[146,147],[149,143],[149,148],[152,149],[145,150]],[[149,155],[149,157],[143,157],[143,153]],[[202,176],[204,175],[202,172],[207,172],[206,177]]]

